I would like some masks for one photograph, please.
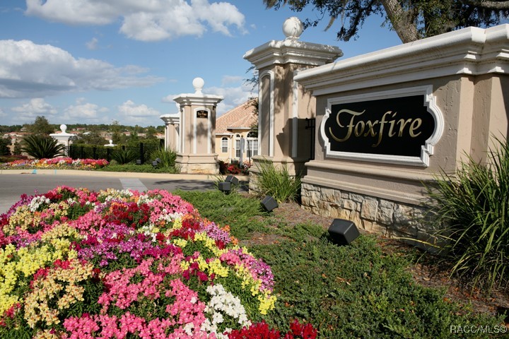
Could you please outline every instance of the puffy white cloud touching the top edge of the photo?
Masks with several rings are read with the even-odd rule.
[[[228,2],[209,0],[27,0],[26,14],[69,25],[107,25],[120,18],[120,32],[141,41],[170,40],[213,32],[241,34],[245,16]]]

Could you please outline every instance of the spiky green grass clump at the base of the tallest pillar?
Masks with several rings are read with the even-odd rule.
[[[272,162],[257,165],[254,182],[262,196],[272,196],[276,201],[296,201],[300,195],[300,174],[290,175],[286,166],[275,167]]]

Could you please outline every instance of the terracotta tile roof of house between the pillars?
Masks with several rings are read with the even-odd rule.
[[[256,124],[258,121],[256,106],[251,102],[252,100],[244,102],[218,117],[216,119],[216,134],[230,133],[228,129],[246,129]]]

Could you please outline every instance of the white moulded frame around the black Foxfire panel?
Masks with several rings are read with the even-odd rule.
[[[403,156],[403,155],[384,155],[373,153],[353,153],[331,150],[329,139],[325,135],[325,123],[332,114],[332,105],[345,104],[349,102],[363,102],[370,100],[382,100],[388,98],[408,97],[413,95],[424,95],[423,105],[427,107],[427,111],[432,115],[435,121],[435,129],[431,136],[421,145],[421,155],[419,157]],[[444,130],[444,118],[440,108],[436,105],[433,96],[433,86],[419,86],[411,88],[403,88],[401,90],[386,90],[382,92],[367,93],[363,95],[349,95],[346,97],[334,97],[327,100],[327,109],[320,124],[320,136],[324,141],[325,157],[337,159],[361,160],[370,162],[385,162],[398,165],[414,165],[428,167],[430,156],[433,155],[434,147],[440,140]]]

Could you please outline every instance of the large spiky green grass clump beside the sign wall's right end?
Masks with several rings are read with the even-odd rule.
[[[486,290],[509,283],[509,144],[495,140],[486,164],[469,157],[456,174],[443,172],[427,186],[433,214],[445,225],[438,235],[452,273]]]

